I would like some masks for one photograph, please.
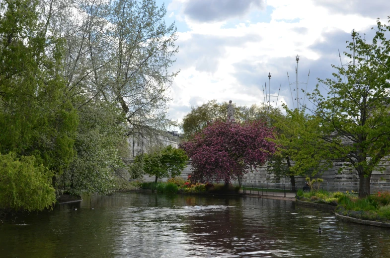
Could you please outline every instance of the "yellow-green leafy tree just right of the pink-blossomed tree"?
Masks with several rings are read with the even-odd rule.
[[[313,176],[331,167],[333,160],[325,142],[319,138],[318,119],[305,114],[305,110],[284,108],[286,115],[273,116],[279,148],[269,160],[267,170],[277,178],[289,177],[295,191],[296,176]]]

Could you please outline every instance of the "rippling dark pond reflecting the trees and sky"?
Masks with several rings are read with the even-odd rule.
[[[10,258],[390,257],[390,229],[257,197],[86,196],[0,225],[0,243]]]

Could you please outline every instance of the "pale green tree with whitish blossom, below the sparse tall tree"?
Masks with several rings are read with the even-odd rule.
[[[60,187],[76,195],[109,194],[116,171],[126,166],[122,157],[129,156],[123,114],[104,102],[84,105],[78,114],[77,155],[59,180]]]

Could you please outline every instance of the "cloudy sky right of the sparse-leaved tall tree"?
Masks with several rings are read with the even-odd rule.
[[[290,83],[310,92],[316,78],[330,78],[332,64],[343,64],[346,41],[355,29],[372,39],[376,18],[387,22],[389,0],[156,0],[165,4],[166,22],[175,22],[179,53],[169,116],[181,122],[191,106],[208,100],[238,105],[264,102],[271,73],[271,102],[293,107]],[[294,86],[295,87],[295,86]],[[306,88],[305,84],[300,88]],[[295,92],[293,91],[293,94]],[[301,93],[302,94],[302,93]],[[295,96],[293,96],[295,97]],[[301,96],[300,96],[301,97]]]

